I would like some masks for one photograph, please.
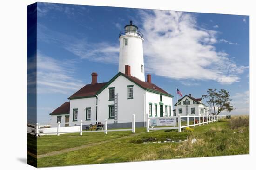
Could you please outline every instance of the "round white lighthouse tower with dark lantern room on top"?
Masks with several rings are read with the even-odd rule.
[[[131,76],[145,81],[143,34],[138,31],[138,27],[133,25],[132,21],[124,29],[119,34],[119,72],[125,73],[125,65],[129,65]]]

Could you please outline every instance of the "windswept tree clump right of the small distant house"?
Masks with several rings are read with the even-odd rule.
[[[220,89],[218,92],[216,92],[216,89],[209,88],[207,91],[207,95],[202,95],[202,98],[208,98],[209,100],[207,103],[209,105],[213,105],[214,108],[214,114],[219,115],[222,111],[228,111],[231,112],[235,108],[231,105],[230,101],[230,95],[229,92],[225,89]],[[216,113],[215,106],[218,107],[218,111]]]

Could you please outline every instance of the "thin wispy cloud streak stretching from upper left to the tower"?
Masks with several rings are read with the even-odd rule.
[[[118,63],[119,44],[109,42],[88,42],[86,38],[76,38],[64,33],[52,31],[38,24],[38,39],[46,43],[58,44],[80,57],[101,63]]]

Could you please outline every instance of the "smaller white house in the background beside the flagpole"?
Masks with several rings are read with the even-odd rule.
[[[210,108],[202,103],[202,98],[194,98],[191,94],[179,99],[174,106],[174,115],[178,115],[177,113],[181,116],[203,116],[210,114]]]

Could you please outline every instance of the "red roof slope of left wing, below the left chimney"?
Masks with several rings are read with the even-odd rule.
[[[94,96],[107,83],[108,82],[87,84],[83,88],[75,92],[73,95],[71,95],[68,99]]]

